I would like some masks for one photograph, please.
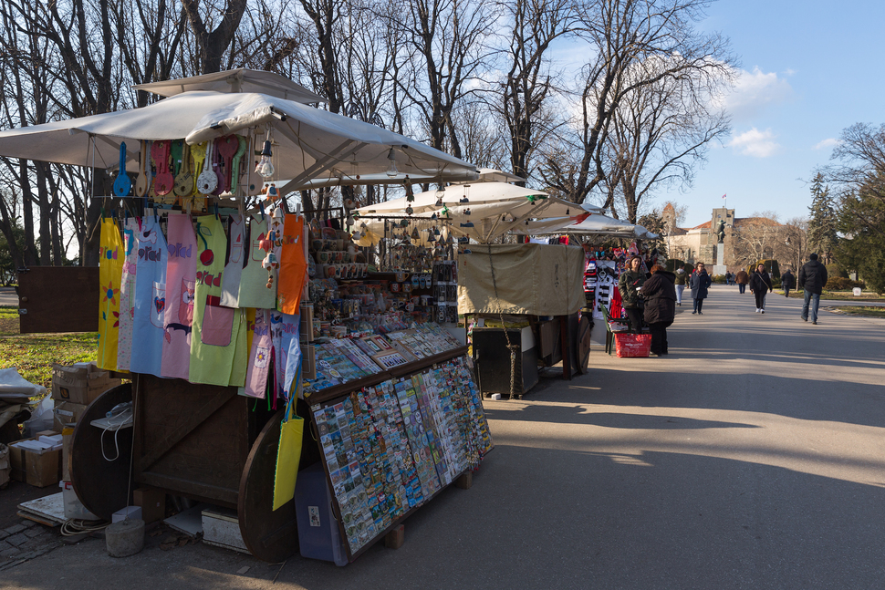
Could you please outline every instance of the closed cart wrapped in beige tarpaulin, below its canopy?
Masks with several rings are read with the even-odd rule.
[[[476,245],[459,258],[459,310],[474,316],[477,325],[478,320],[499,323],[472,329],[483,393],[518,399],[535,386],[538,366],[560,361],[563,378],[587,370],[590,321],[580,313],[583,267],[583,251],[565,245]]]

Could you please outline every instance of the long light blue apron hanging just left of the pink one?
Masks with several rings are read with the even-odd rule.
[[[160,220],[152,215],[143,218],[138,239],[130,371],[160,377],[167,257]]]

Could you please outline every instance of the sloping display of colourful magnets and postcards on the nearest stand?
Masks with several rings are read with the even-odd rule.
[[[317,347],[305,396],[350,561],[492,450],[467,362],[432,324]]]

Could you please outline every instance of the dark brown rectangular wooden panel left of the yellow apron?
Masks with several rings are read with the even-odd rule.
[[[22,334],[99,329],[97,266],[32,266],[18,274],[18,297]]]

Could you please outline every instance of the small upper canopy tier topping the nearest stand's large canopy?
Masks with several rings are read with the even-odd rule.
[[[305,104],[326,102],[325,98],[289,78],[283,78],[274,72],[246,69],[245,67],[193,76],[192,78],[137,84],[132,88],[159,94],[161,97],[173,97],[176,94],[193,90],[211,90],[213,92],[257,92]]]

